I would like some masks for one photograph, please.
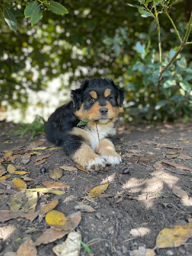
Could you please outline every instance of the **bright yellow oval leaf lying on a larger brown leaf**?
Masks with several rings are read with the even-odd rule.
[[[55,210],[52,210],[46,214],[45,221],[49,226],[55,228],[56,230],[67,230],[71,228],[70,220],[65,216],[65,214]]]

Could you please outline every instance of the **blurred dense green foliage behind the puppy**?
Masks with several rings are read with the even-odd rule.
[[[12,4],[16,33],[4,21],[5,2]],[[68,73],[69,83],[62,80],[62,88],[70,88],[72,81],[84,77],[113,78],[125,88],[125,117],[129,119],[139,116],[162,121],[182,116],[188,120],[192,116],[192,45],[184,44],[159,77],[160,66],[166,67],[184,41],[191,17],[190,0],[132,0],[131,4],[55,1],[68,13],[56,15],[45,8],[42,19],[32,28],[31,20],[24,17],[30,2],[0,0],[0,102],[5,99],[23,107],[28,104],[28,88],[44,90],[48,81]],[[191,42],[192,33],[188,36]]]

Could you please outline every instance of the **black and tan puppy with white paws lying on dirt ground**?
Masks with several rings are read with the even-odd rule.
[[[63,147],[86,170],[100,170],[122,160],[107,137],[122,113],[124,92],[112,80],[87,79],[71,92],[72,101],[56,109],[46,124],[49,141]],[[77,126],[81,120],[90,120]]]

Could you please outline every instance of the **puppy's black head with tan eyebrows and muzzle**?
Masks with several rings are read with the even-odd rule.
[[[71,96],[76,107],[75,114],[81,120],[102,120],[106,124],[123,111],[124,91],[112,80],[84,80],[79,89],[72,91]]]

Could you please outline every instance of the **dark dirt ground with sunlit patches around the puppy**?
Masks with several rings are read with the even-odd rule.
[[[54,147],[47,142],[45,134],[40,134],[35,140],[29,141],[29,135],[23,138],[13,136],[10,131],[14,129],[17,129],[17,125],[0,123],[0,159],[8,150],[13,150],[13,154],[17,154],[18,150],[30,148],[28,152],[36,152],[32,148]],[[59,203],[54,210],[63,212],[66,216],[76,212],[75,207],[78,202],[91,205],[95,211],[81,211],[81,222],[76,228],[81,232],[82,241],[89,245],[90,255],[145,256],[143,247],[154,248],[156,237],[163,228],[191,222],[192,125],[122,124],[118,125],[113,142],[123,162],[115,167],[109,166],[103,172],[86,173],[82,170],[75,172],[63,170],[59,180],[51,179],[49,177],[51,170],[58,166],[76,167],[76,164],[65,155],[61,148],[38,150],[38,156],[52,153],[49,158],[45,159],[45,163],[38,166],[35,166],[37,154],[32,154],[26,164],[21,161],[22,155],[13,161],[1,159],[0,166],[7,168],[10,163],[17,168],[24,166],[29,172],[28,177],[34,179],[26,181],[28,188],[42,187],[42,182],[46,181],[65,182],[70,186],[65,189],[64,195],[38,193],[35,211],[56,198],[59,199]],[[167,154],[168,152],[171,153]],[[172,152],[177,153],[178,156],[173,156]],[[168,159],[169,156],[175,158]],[[172,163],[181,166],[175,167]],[[42,167],[46,169],[45,173],[40,172]],[[128,169],[127,174],[123,173],[125,169]],[[4,175],[6,174],[10,173]],[[18,193],[18,189],[10,183],[16,176],[18,175],[10,175],[5,181],[0,180],[1,211],[10,210],[10,199]],[[109,186],[106,191],[93,198],[94,202],[83,199],[84,196],[88,196],[90,189],[107,183]],[[175,195],[174,188],[185,191],[187,198]],[[36,230],[26,234],[26,230],[31,228],[36,228]],[[16,255],[16,253],[8,252],[17,252],[20,244],[26,241],[26,237],[31,237],[33,241],[36,241],[37,237],[47,228],[49,225],[45,222],[45,218],[42,221],[36,218],[32,222],[26,218],[1,222],[0,255]],[[55,255],[52,248],[56,244],[63,243],[66,237],[37,246],[37,255]],[[140,252],[136,253],[134,250],[138,248]],[[192,239],[189,238],[179,247],[156,248],[155,253],[155,255],[162,256],[192,255]],[[83,247],[80,255],[88,255]]]

